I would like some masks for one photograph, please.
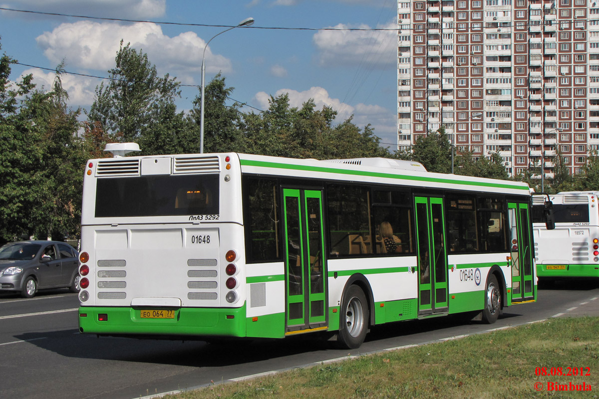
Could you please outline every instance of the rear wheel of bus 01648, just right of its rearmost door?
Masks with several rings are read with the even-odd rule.
[[[350,285],[343,294],[337,343],[341,348],[359,348],[368,333],[370,312],[364,291]]]

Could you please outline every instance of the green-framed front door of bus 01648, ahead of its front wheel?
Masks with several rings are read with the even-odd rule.
[[[512,256],[512,302],[534,299],[533,251],[527,203],[507,203]]]

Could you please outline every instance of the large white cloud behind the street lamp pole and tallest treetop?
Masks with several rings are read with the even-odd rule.
[[[183,32],[170,37],[153,23],[97,23],[80,21],[63,23],[52,32],[37,37],[44,55],[53,63],[66,63],[77,68],[108,71],[114,67],[114,57],[120,40],[148,54],[151,63],[161,74],[169,73],[183,83],[199,81],[202,51],[205,41],[194,32]],[[206,71],[231,72],[231,61],[206,49]]]

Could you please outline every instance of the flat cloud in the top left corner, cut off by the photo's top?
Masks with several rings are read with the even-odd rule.
[[[7,0],[7,2],[9,8],[125,19],[161,17],[167,9],[167,0]]]

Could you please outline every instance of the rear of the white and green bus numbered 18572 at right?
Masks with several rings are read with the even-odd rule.
[[[533,196],[533,232],[539,278],[599,277],[599,199],[596,191],[549,196],[555,229],[541,220],[543,196]]]

